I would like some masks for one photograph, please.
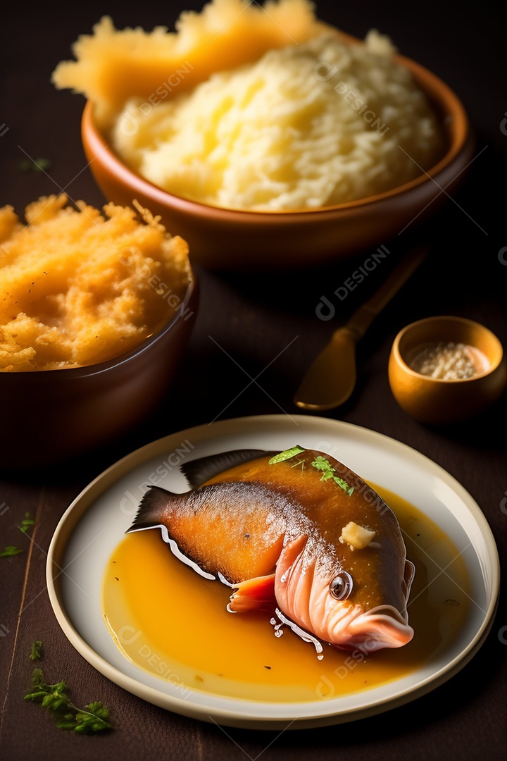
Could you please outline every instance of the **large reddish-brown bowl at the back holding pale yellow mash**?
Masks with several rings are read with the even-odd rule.
[[[458,97],[423,66],[404,56],[397,58],[433,103],[447,137],[447,151],[427,174],[387,193],[294,212],[243,212],[185,200],[122,163],[93,123],[93,103],[88,102],[81,135],[90,170],[106,199],[120,205],[138,199],[160,214],[168,230],[188,241],[192,262],[213,269],[281,270],[325,263],[378,246],[439,209],[464,179],[474,144]]]

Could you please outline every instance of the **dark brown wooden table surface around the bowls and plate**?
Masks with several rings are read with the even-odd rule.
[[[24,205],[65,189],[95,205],[103,197],[84,161],[79,122],[84,101],[55,91],[50,75],[70,57],[71,43],[103,13],[118,27],[172,27],[180,8],[93,2],[40,6],[9,4],[2,13],[0,95],[0,205]],[[190,7],[185,5],[186,7]],[[199,8],[197,5],[196,8]],[[417,8],[374,2],[319,14],[363,37],[370,27],[388,33],[402,53],[440,75],[464,102],[477,133],[467,180],[448,200],[430,238],[429,258],[375,320],[358,349],[359,377],[352,398],[323,413],[329,419],[379,431],[408,444],[455,476],[486,515],[502,565],[507,552],[505,395],[479,419],[445,428],[420,425],[395,403],[387,361],[398,330],[432,314],[456,314],[485,323],[507,343],[507,235],[505,234],[505,20],[490,2],[477,11],[428,2]],[[46,173],[22,171],[27,158],[48,158]],[[427,230],[412,231],[426,239]],[[410,244],[393,242],[401,256]],[[395,250],[393,248],[393,250]],[[375,288],[388,267],[377,267],[361,287],[337,304],[335,320],[315,317],[368,252],[316,271],[245,277],[197,268],[201,283],[198,322],[181,371],[167,398],[142,425],[102,451],[40,469],[0,472],[0,543],[23,552],[0,559],[0,686],[2,759],[471,759],[505,758],[507,614],[505,594],[486,642],[448,682],[414,702],[336,727],[301,731],[246,731],[195,721],[143,702],[93,669],[68,642],[46,590],[46,553],[71,501],[124,454],[192,425],[240,416],[294,416],[293,393],[331,331]],[[211,372],[217,384],[210,382]],[[0,400],[6,404],[8,400]],[[305,414],[305,413],[303,413]],[[9,431],[2,431],[2,449]],[[2,460],[0,458],[0,465]],[[18,526],[29,513],[35,524]],[[42,709],[24,702],[33,664],[33,640],[44,645],[45,672],[65,679],[76,702],[101,699],[114,730],[78,737],[55,728]]]

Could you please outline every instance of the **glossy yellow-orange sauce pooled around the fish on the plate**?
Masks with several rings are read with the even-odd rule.
[[[373,488],[395,511],[416,565],[408,605],[415,634],[408,645],[372,654],[324,645],[319,657],[288,626],[277,629],[274,612],[228,613],[230,589],[176,559],[157,529],[128,534],[106,566],[103,615],[116,645],[183,699],[195,691],[270,702],[331,699],[426,664],[452,644],[467,619],[467,568],[433,521]]]

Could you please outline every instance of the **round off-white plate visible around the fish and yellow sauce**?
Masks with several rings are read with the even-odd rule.
[[[112,551],[132,523],[147,482],[188,486],[179,463],[241,448],[284,450],[300,444],[327,451],[363,479],[395,492],[427,514],[460,549],[471,578],[471,613],[452,645],[386,685],[328,700],[280,703],[194,692],[129,662],[103,622],[101,583]],[[158,470],[157,470],[158,469]],[[306,416],[255,416],[201,425],[129,454],[104,471],[70,505],[49,547],[46,577],[55,616],[74,648],[112,682],[170,711],[242,728],[323,726],[383,712],[448,680],[483,644],[499,594],[495,540],[471,495],[445,470],[405,444],[344,422]]]

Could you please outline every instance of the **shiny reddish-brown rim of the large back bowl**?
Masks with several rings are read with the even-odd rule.
[[[359,40],[350,34],[341,32],[341,30],[334,31],[337,32],[338,37],[341,37],[345,41],[349,41],[351,44],[363,42],[363,40]],[[270,224],[273,223],[273,220],[276,220],[277,224],[293,223],[294,217],[303,221],[315,221],[315,219],[320,216],[339,215],[347,212],[361,212],[363,209],[369,209],[372,206],[381,204],[385,200],[402,196],[404,193],[410,193],[410,191],[419,188],[421,185],[424,185],[429,181],[436,183],[435,178],[438,177],[442,171],[452,166],[453,162],[467,147],[467,144],[473,140],[473,131],[467,112],[464,109],[461,99],[455,94],[452,88],[439,78],[439,76],[433,74],[428,68],[417,63],[414,59],[410,59],[400,53],[395,53],[393,59],[400,65],[404,66],[404,68],[407,68],[410,73],[414,75],[420,88],[423,89],[423,92],[436,110],[437,116],[445,129],[448,145],[445,153],[439,161],[437,161],[433,167],[430,167],[429,170],[423,171],[422,174],[419,174],[407,183],[386,190],[383,193],[377,193],[374,196],[366,196],[366,198],[363,199],[356,199],[354,201],[348,201],[336,205],[321,206],[315,209],[255,210],[230,209],[223,206],[216,206],[200,201],[194,201],[192,199],[186,199],[184,196],[177,196],[174,193],[170,193],[170,191],[155,185],[150,180],[147,180],[142,177],[141,174],[138,174],[135,170],[128,167],[116,152],[109,147],[103,132],[101,132],[100,128],[94,123],[92,100],[87,100],[84,105],[84,110],[81,116],[81,139],[84,143],[90,146],[95,158],[98,158],[99,156],[101,157],[102,163],[106,164],[112,176],[118,177],[120,181],[124,182],[132,189],[135,187],[135,192],[141,193],[151,201],[163,206],[170,204],[174,209],[178,209],[179,212],[200,215],[201,217],[220,217],[233,222],[258,220],[269,221]],[[463,171],[463,169],[461,171]],[[461,172],[459,174],[461,174]],[[456,177],[458,177],[458,175]],[[453,182],[456,177],[453,177],[450,182]],[[436,184],[438,185],[438,183]]]

